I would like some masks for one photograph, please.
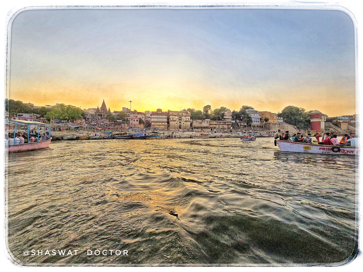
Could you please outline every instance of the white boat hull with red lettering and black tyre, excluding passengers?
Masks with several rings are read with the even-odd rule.
[[[355,155],[359,154],[358,147],[338,146],[338,145],[322,145],[307,144],[291,141],[276,140],[277,146],[282,152],[301,152],[301,153],[317,153],[331,155]]]

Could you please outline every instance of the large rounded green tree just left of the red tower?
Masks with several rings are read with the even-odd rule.
[[[310,115],[305,112],[304,108],[287,106],[281,112],[277,113],[278,117],[284,118],[287,124],[294,125],[297,128],[308,128]]]

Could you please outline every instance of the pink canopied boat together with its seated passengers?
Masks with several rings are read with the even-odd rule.
[[[5,120],[5,152],[22,152],[49,147],[50,124],[28,120]],[[18,137],[17,135],[25,137]],[[8,137],[8,139],[6,139]],[[17,138],[15,140],[15,138]]]

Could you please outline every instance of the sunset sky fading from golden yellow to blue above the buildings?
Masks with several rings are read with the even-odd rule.
[[[9,98],[36,106],[355,113],[342,11],[28,10],[11,25],[9,68]]]

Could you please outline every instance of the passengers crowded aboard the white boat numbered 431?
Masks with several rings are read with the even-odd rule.
[[[283,141],[292,141],[292,142],[298,142],[298,143],[307,143],[307,144],[323,144],[323,145],[339,145],[339,146],[352,146],[352,147],[358,147],[358,136],[355,136],[355,134],[352,132],[349,135],[344,134],[342,139],[338,142],[337,135],[330,134],[329,132],[323,133],[323,135],[320,135],[319,133],[315,133],[314,135],[311,135],[311,133],[307,133],[306,135],[303,135],[300,132],[297,132],[293,134],[292,137],[290,137],[289,131],[285,131],[285,133],[281,133],[281,130],[279,129],[275,135],[274,138],[283,140]]]

